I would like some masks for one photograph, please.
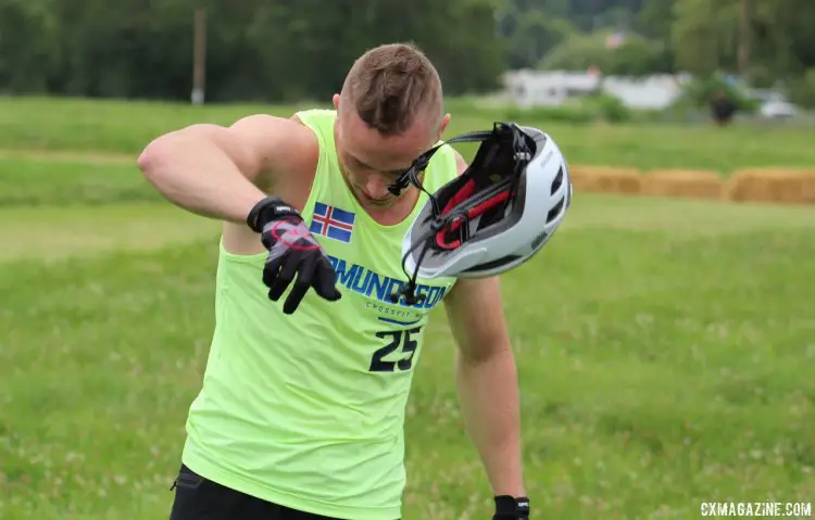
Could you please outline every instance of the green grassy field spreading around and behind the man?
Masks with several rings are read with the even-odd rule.
[[[41,125],[24,124],[26,106]],[[110,154],[248,110],[0,102],[1,519],[166,518],[212,332],[218,226]],[[804,134],[556,131],[580,162],[815,165]],[[813,231],[815,207],[577,194],[551,245],[504,276],[535,518],[815,502]],[[490,515],[452,351],[439,314],[409,408],[405,520]]]

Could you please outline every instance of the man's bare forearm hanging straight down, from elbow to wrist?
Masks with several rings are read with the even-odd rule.
[[[512,350],[472,360],[459,358],[459,401],[471,439],[496,495],[525,496],[521,413]]]

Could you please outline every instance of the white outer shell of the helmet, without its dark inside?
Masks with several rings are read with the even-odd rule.
[[[452,236],[463,232],[462,238],[444,238],[446,231],[434,227],[438,220],[428,201],[402,243],[408,272],[426,279],[500,275],[527,262],[552,238],[572,202],[566,160],[546,132],[512,124],[510,127],[526,136],[524,141],[530,145],[527,150],[531,150],[526,153],[531,156],[523,158],[528,162],[517,173],[517,149],[493,142],[489,150],[484,143],[467,170],[434,193],[440,205],[447,204],[443,213],[467,204],[464,211],[468,208],[471,213],[454,226],[460,232],[447,227]],[[506,189],[502,192],[494,189],[496,173],[504,177]],[[484,186],[478,186],[479,179],[484,179]],[[468,203],[461,200],[463,196]],[[479,210],[473,212],[474,205]],[[427,246],[423,242],[428,242]]]

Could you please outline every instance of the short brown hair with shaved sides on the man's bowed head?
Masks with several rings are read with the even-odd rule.
[[[388,43],[368,50],[351,67],[342,86],[360,118],[383,135],[405,131],[418,114],[441,117],[441,79],[430,60],[413,43]]]

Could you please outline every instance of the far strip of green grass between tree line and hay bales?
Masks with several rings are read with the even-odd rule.
[[[314,105],[316,106],[316,105]],[[321,106],[328,106],[323,103]],[[305,105],[303,106],[305,107]],[[0,150],[136,154],[159,135],[198,123],[229,124],[255,112],[290,115],[293,106],[205,105],[0,98]],[[446,137],[489,128],[506,111],[474,112],[451,102],[453,119]],[[757,166],[815,166],[815,131],[735,126],[590,125],[574,126],[528,116],[518,123],[549,131],[573,164],[640,168],[710,168],[727,174]],[[473,147],[462,147],[472,151]]]

